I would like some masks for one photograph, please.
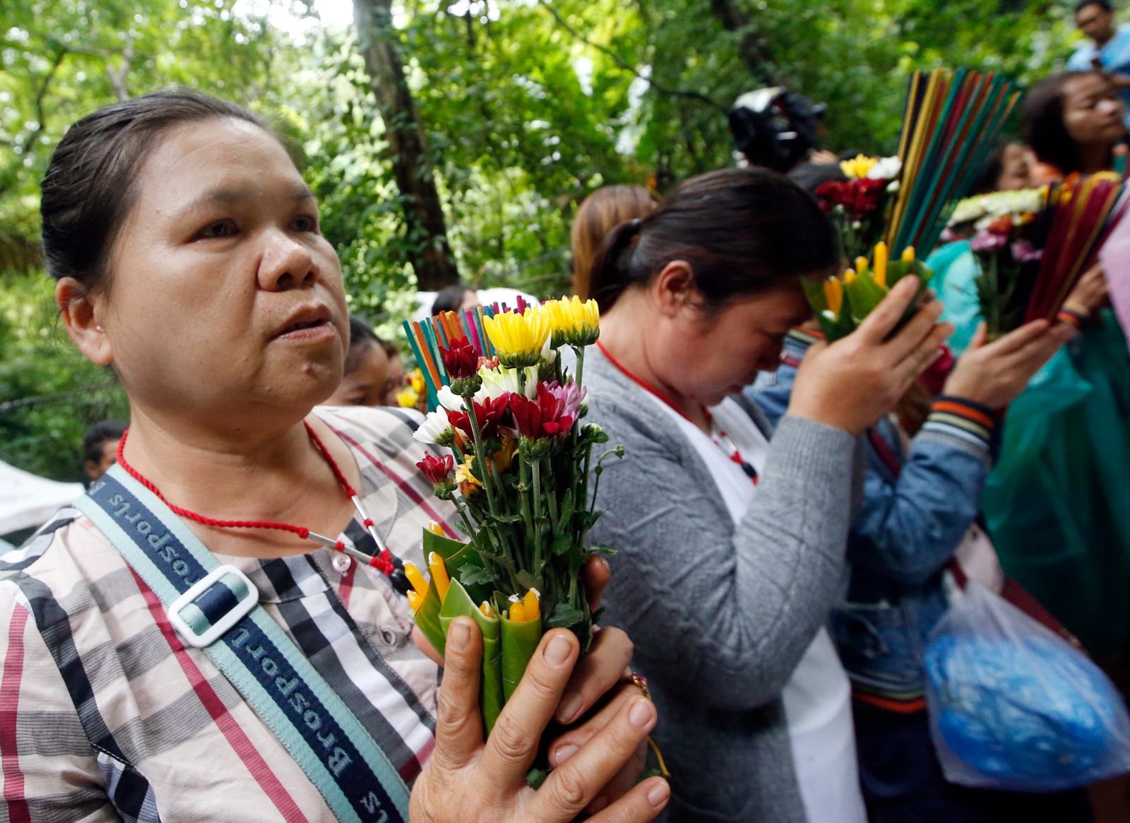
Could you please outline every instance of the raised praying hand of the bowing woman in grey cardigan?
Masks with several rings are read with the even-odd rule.
[[[903,277],[855,331],[832,345],[809,348],[797,373],[789,414],[852,435],[887,414],[954,330],[950,323],[937,322],[941,303],[935,300],[897,328],[918,288],[916,277]]]

